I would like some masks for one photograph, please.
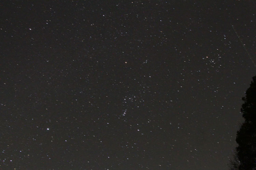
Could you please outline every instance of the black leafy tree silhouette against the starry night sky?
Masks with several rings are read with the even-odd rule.
[[[256,76],[245,94],[241,108],[245,121],[237,132],[238,147],[231,161],[232,170],[256,170]]]

